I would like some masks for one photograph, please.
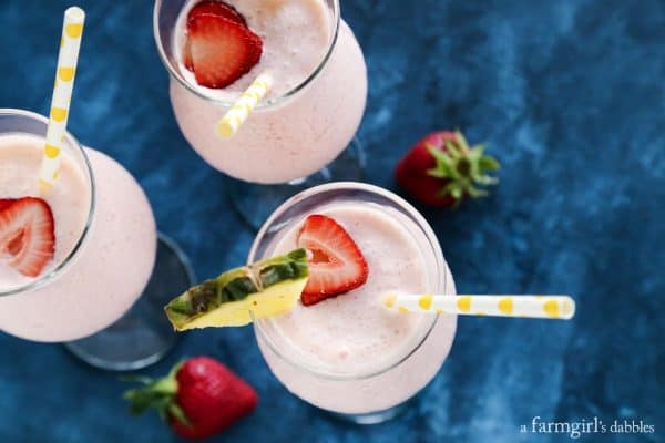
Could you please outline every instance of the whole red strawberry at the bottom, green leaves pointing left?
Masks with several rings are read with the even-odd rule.
[[[254,410],[254,389],[228,368],[208,357],[176,364],[167,377],[140,379],[143,388],[124,393],[130,411],[156,408],[173,431],[184,439],[212,436]]]

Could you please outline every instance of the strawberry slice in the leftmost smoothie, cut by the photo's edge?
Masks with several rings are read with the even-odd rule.
[[[53,214],[47,202],[34,197],[0,200],[0,258],[22,275],[37,277],[54,250]]]

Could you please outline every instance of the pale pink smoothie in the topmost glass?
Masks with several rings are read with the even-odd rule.
[[[182,60],[185,20],[196,1],[188,2],[175,24],[172,53],[162,53],[181,131],[207,163],[246,182],[285,183],[315,173],[349,144],[367,97],[365,59],[339,20],[337,1],[226,2],[262,38],[262,58],[225,89],[198,85]],[[217,121],[263,72],[274,78],[266,100],[232,140],[218,138]]]

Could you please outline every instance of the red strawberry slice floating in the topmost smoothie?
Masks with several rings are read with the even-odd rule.
[[[260,38],[235,21],[206,13],[193,17],[187,28],[194,75],[203,86],[226,87],[260,59]]]

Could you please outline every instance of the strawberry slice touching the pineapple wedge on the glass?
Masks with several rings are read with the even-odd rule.
[[[297,244],[311,255],[309,279],[300,301],[311,306],[348,292],[367,281],[368,267],[351,236],[332,218],[313,214],[305,219]]]

